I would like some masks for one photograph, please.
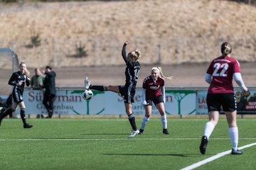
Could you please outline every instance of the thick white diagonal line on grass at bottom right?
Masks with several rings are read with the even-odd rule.
[[[254,145],[256,145],[256,143],[252,143],[252,144],[249,144],[249,145],[238,147],[238,149],[244,149],[244,148],[247,148],[247,147],[252,147]],[[214,155],[213,157],[209,157],[208,159],[204,159],[201,162],[197,162],[196,164],[192,164],[190,166],[186,166],[185,168],[183,168],[181,170],[191,170],[191,169],[198,168],[199,166],[202,166],[203,164],[207,164],[208,162],[212,162],[213,160],[218,159],[220,157],[223,157],[226,154],[230,154],[230,152],[231,152],[231,150],[228,150],[228,151],[225,151],[225,152],[221,152],[219,154]]]

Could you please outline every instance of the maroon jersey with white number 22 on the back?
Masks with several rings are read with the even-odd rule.
[[[212,76],[208,94],[233,93],[233,74],[240,72],[238,60],[220,56],[210,63],[207,73]]]

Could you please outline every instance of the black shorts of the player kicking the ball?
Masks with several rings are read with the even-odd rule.
[[[124,103],[134,103],[135,87],[130,86],[118,86],[119,94],[124,97]]]

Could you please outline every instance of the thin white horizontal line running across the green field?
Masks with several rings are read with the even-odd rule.
[[[31,139],[0,139],[1,141],[75,141],[75,140],[200,140],[199,138],[31,138]],[[230,140],[227,138],[210,138],[210,140]],[[239,140],[256,140],[256,138],[240,138]],[[256,144],[256,143],[255,143]]]

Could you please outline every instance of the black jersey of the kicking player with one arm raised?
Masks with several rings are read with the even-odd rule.
[[[125,48],[126,44],[124,44],[122,48],[122,57],[124,59],[124,62],[127,64],[127,67],[125,69],[125,82],[126,84],[133,84],[133,86],[136,86],[137,79],[139,78],[140,64],[139,62],[129,61],[126,55]]]

